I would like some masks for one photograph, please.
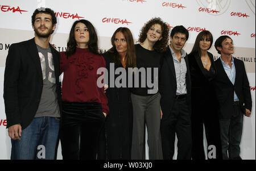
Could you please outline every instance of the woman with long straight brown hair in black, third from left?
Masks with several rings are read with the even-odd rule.
[[[108,69],[108,106],[110,114],[106,118],[106,153],[108,160],[131,159],[131,135],[133,128],[133,106],[131,104],[130,90],[128,87],[128,68],[136,65],[133,35],[129,28],[119,27],[111,38],[112,48],[104,53],[106,69]],[[126,72],[126,85],[113,82],[121,75],[110,76],[110,68],[122,69]],[[106,74],[106,73],[105,73]],[[132,74],[132,73],[131,73]],[[110,82],[112,81],[112,82]]]

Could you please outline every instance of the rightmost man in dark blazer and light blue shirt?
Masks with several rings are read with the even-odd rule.
[[[249,81],[243,61],[232,57],[233,40],[229,36],[220,36],[214,46],[221,54],[215,61],[217,76],[214,86],[219,103],[222,156],[223,159],[241,159],[243,115],[251,115]]]

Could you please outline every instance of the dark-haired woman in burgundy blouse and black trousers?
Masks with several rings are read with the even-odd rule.
[[[67,52],[61,52],[63,118],[61,148],[63,159],[96,159],[97,142],[109,112],[104,87],[97,86],[105,68],[98,53],[98,37],[88,20],[77,20],[71,28]]]

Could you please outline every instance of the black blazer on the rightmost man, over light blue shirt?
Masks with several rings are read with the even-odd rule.
[[[236,80],[234,85],[229,80],[220,58],[215,61],[215,65],[218,73],[214,79],[214,87],[220,106],[218,111],[219,117],[229,119],[234,114],[234,91],[236,91],[237,97],[239,98],[242,113],[245,114],[245,109],[251,111],[250,86],[243,61],[234,58],[234,65],[236,66]]]

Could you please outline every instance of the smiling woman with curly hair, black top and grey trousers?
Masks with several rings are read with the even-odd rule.
[[[160,18],[152,18],[144,24],[139,35],[139,44],[135,45],[137,68],[145,70],[135,72],[134,84],[131,89],[133,103],[133,138],[131,159],[144,159],[145,123],[148,135],[149,159],[163,159],[160,136],[160,94],[158,87],[148,86],[158,83],[158,69],[161,53],[167,49],[169,28]],[[151,74],[151,75],[150,75]],[[138,78],[136,80],[136,78]],[[147,83],[146,87],[143,82]]]

